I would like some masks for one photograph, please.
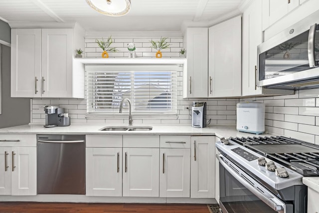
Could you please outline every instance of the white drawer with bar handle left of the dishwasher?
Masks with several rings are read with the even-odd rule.
[[[0,147],[36,147],[36,135],[0,134]]]

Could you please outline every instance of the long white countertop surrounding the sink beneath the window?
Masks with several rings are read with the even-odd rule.
[[[217,137],[254,137],[256,134],[238,132],[235,125],[212,125],[206,128],[194,128],[190,125],[133,125],[152,126],[150,131],[100,131],[106,126],[126,126],[108,124],[71,124],[67,127],[45,128],[43,125],[22,125],[0,129],[0,134],[105,134],[105,135],[216,135]],[[269,136],[269,134],[266,134]],[[261,134],[258,136],[265,136]]]

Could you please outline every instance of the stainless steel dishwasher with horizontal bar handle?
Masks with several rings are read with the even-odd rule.
[[[85,135],[37,135],[37,194],[85,195]]]

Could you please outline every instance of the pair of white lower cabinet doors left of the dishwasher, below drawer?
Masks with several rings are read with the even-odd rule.
[[[0,195],[36,195],[36,147],[0,147]]]

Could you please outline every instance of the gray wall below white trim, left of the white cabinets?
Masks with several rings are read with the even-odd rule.
[[[1,28],[0,28],[1,31]],[[10,47],[1,45],[1,95],[2,113],[0,128],[28,124],[30,122],[30,98],[10,97]]]

